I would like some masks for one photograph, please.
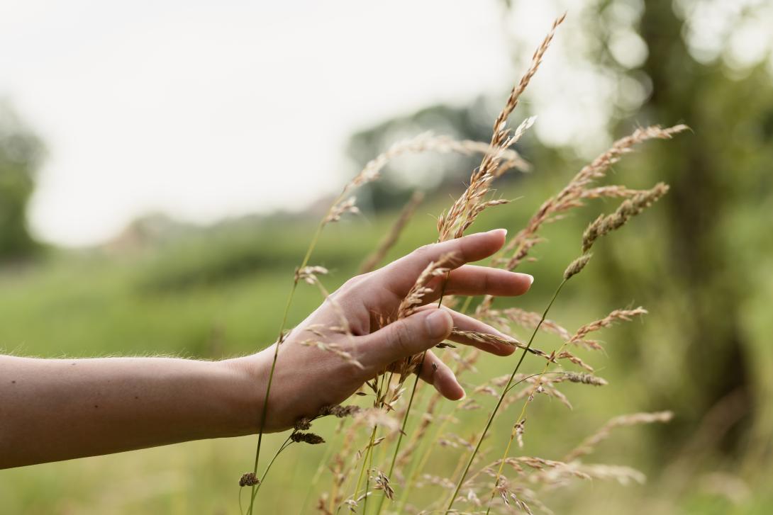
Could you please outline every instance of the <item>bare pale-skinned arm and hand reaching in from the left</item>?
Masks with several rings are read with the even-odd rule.
[[[410,317],[379,327],[377,315],[396,313],[424,267],[449,252],[454,258],[446,294],[526,293],[531,276],[466,264],[491,256],[504,241],[505,231],[497,229],[424,246],[347,281],[331,296],[346,313],[353,336],[327,337],[363,368],[301,344],[314,337],[307,327],[340,325],[339,314],[325,301],[279,347],[265,431],[284,431],[324,405],[345,401],[390,363],[447,340],[452,327],[502,336],[471,317],[438,309],[444,278],[430,283],[433,293],[425,297],[426,306]],[[506,344],[451,340],[499,356],[514,351]],[[223,361],[0,356],[0,468],[255,434],[273,357],[273,345]],[[448,399],[465,395],[451,369],[432,351],[420,376]]]

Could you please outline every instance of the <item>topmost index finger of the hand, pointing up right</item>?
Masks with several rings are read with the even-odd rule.
[[[378,273],[386,278],[390,290],[404,295],[429,263],[451,254],[450,267],[453,269],[489,257],[505,244],[506,234],[505,229],[494,229],[423,246],[383,267]]]

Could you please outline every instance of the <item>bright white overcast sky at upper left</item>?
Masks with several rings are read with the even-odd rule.
[[[145,212],[302,207],[351,171],[352,131],[506,90],[500,17],[493,0],[2,0],[0,98],[49,149],[33,229],[78,245]]]

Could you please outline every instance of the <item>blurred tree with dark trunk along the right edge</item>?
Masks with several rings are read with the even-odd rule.
[[[694,130],[659,147],[649,168],[673,188],[666,252],[674,267],[670,290],[683,314],[680,359],[690,377],[677,408],[691,422],[733,398],[742,423],[728,429],[720,446],[737,450],[761,408],[755,405],[766,401],[754,398],[760,370],[754,371],[742,311],[764,264],[750,258],[769,255],[757,240],[773,229],[773,83],[763,63],[741,70],[696,59],[684,35],[700,3],[687,3],[647,2],[642,13],[649,49],[642,69],[652,81],[645,116],[653,123],[684,120]],[[743,15],[753,17],[754,9]],[[757,219],[744,214],[752,206]]]

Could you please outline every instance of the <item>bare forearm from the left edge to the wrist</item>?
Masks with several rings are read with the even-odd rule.
[[[0,356],[0,468],[256,432],[237,363]]]

